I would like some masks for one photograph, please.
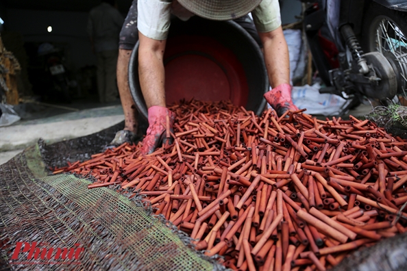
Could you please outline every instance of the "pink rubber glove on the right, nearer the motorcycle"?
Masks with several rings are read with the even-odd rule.
[[[288,83],[282,83],[266,92],[264,98],[275,109],[278,116],[281,116],[289,109],[293,111],[298,110],[298,107],[291,100],[291,86]]]

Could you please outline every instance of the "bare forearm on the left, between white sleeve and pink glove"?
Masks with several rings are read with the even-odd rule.
[[[138,32],[138,76],[147,108],[165,107],[164,64],[165,40],[151,40]]]

